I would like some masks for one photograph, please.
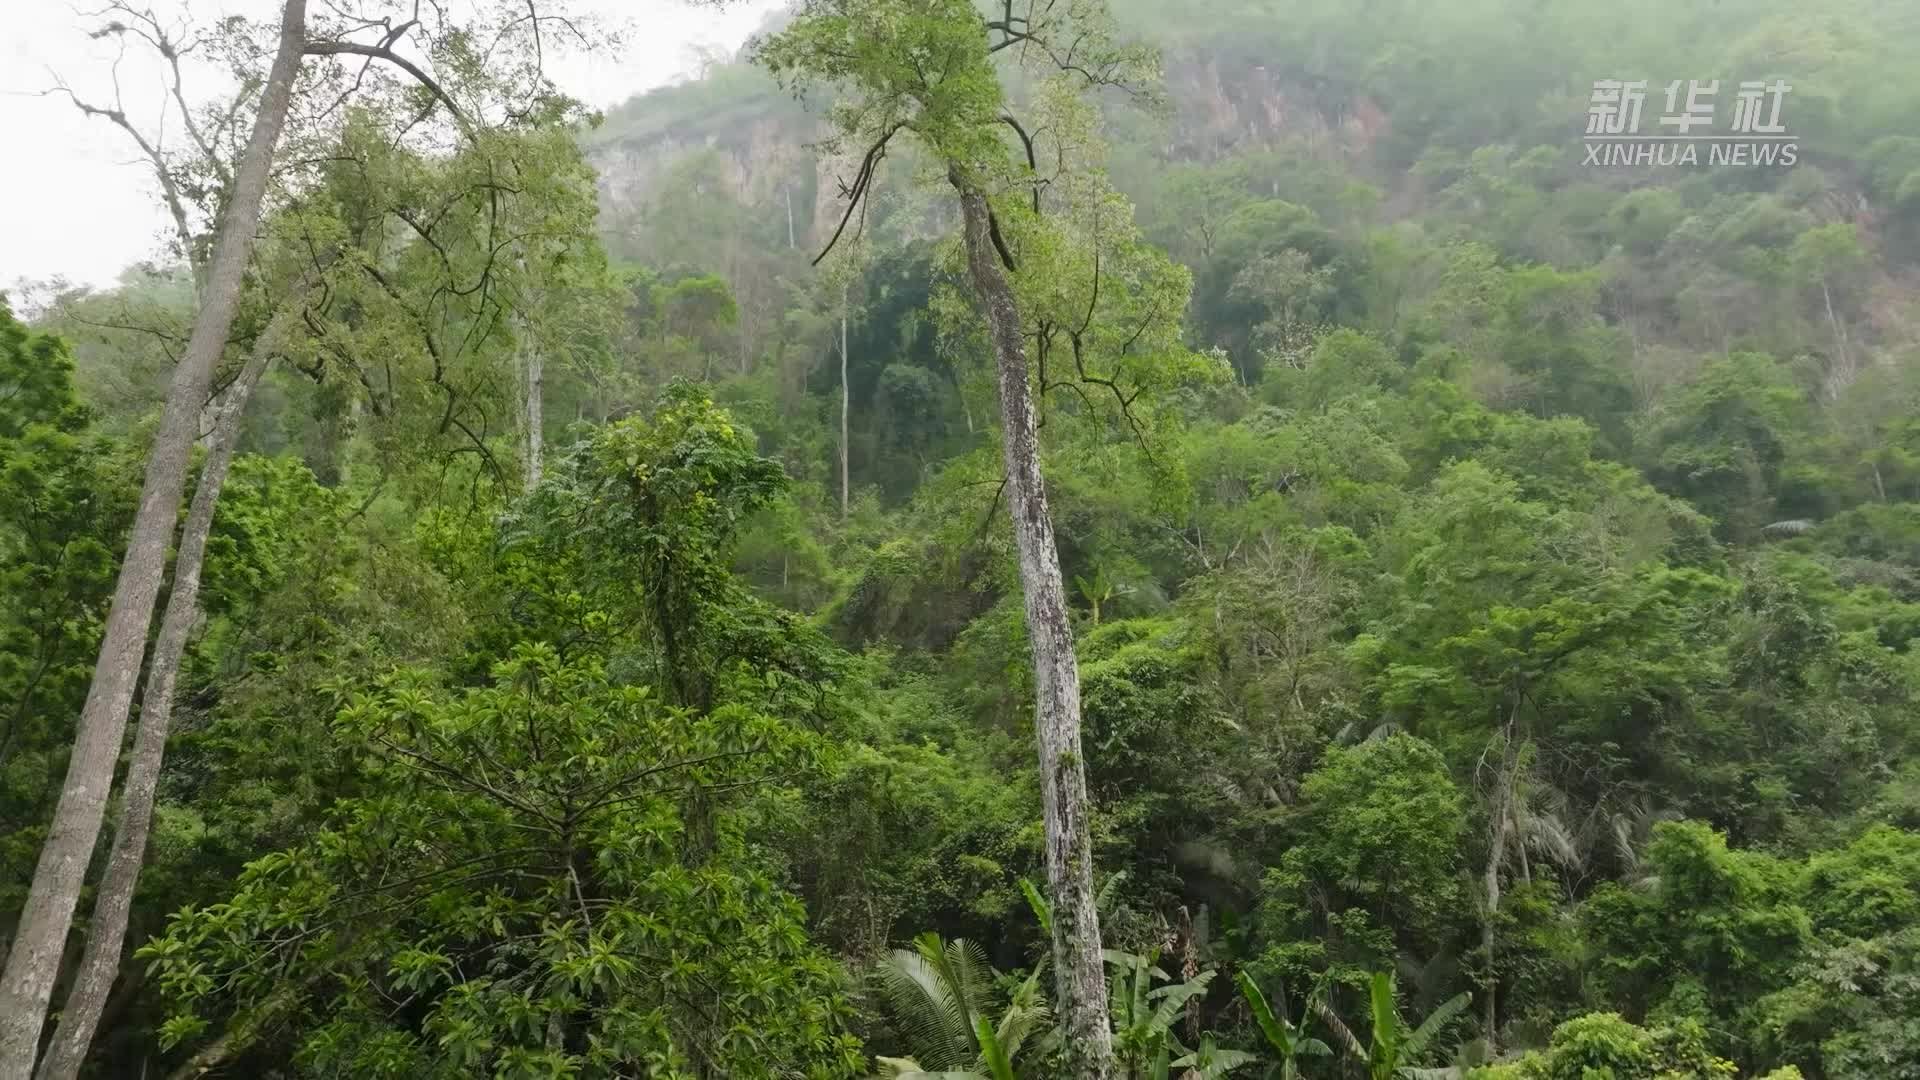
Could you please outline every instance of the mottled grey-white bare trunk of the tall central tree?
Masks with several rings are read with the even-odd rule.
[[[1027,601],[1033,644],[1035,734],[1041,757],[1041,809],[1046,817],[1046,886],[1054,901],[1054,997],[1068,1047],[1068,1076],[1106,1080],[1114,1072],[1114,1034],[1108,1026],[1106,967],[1100,955],[1100,917],[1092,892],[1087,771],[1079,736],[1079,663],[1068,625],[1060,552],[1046,509],[1041,446],[1027,386],[1027,346],[1020,307],[1000,271],[989,234],[987,196],[958,171],[960,215],[966,229],[968,275],[987,311],[987,329],[1000,377],[1006,496],[1020,552],[1020,586]]]

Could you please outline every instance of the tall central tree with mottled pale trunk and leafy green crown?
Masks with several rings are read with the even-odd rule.
[[[1037,215],[1039,183],[1033,140],[1008,111],[995,63],[996,54],[1008,54],[1087,90],[1127,86],[1152,71],[1152,56],[1114,42],[1100,0],[1041,0],[1023,8],[1025,13],[1016,13],[1008,0],[993,19],[972,0],[808,0],[781,35],[760,44],[760,60],[791,85],[854,92],[835,119],[841,138],[866,152],[845,184],[847,211],[833,242],[862,213],[887,146],[902,133],[945,167],[958,196],[968,279],[985,313],[998,373],[1006,500],[1033,648],[1056,1011],[1068,1074],[1104,1080],[1114,1072],[1114,1042],[1094,911],[1079,667],[1041,473],[1027,331],[1008,277],[1018,273],[1018,261],[991,202],[1010,186],[1029,188]],[[1025,150],[1020,160],[1008,131],[1018,133]],[[1087,317],[1092,319],[1092,302]],[[1046,386],[1043,377],[1043,392]]]

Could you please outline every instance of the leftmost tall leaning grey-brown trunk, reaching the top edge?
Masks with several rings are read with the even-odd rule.
[[[113,607],[100,638],[100,659],[94,663],[94,680],[73,732],[67,782],[54,807],[46,842],[40,846],[40,861],[33,871],[33,886],[21,907],[6,970],[0,972],[0,1080],[33,1076],[40,1026],[60,974],[67,930],[73,926],[73,905],[79,901],[86,865],[100,840],[100,822],[113,788],[113,765],[127,734],[127,709],[132,705],[140,655],[146,651],[148,625],[154,619],[154,600],[167,569],[167,544],[180,513],[180,488],[186,484],[200,405],[205,402],[213,365],[232,329],[240,279],[252,256],[253,231],[259,227],[267,196],[273,148],[286,125],[294,75],[305,44],[305,0],[286,0],[280,13],[280,44],[261,92],[259,115],[253,117],[253,133],[234,171],[227,209],[221,213],[219,242],[207,269],[200,315],[194,319],[186,352],[173,369],[159,432],[146,461],[140,509],[113,586]]]

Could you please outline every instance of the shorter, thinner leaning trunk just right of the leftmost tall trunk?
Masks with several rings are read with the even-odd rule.
[[[298,313],[300,296],[290,298],[267,323],[213,421],[207,461],[200,469],[194,503],[186,511],[186,527],[180,532],[180,553],[173,559],[173,592],[167,596],[167,613],[161,615],[154,659],[148,661],[146,669],[146,688],[140,692],[140,724],[132,740],[132,761],[127,765],[113,853],[108,857],[100,896],[94,899],[94,917],[86,926],[81,970],[75,974],[73,990],[67,992],[60,1024],[54,1028],[54,1042],[46,1047],[35,1080],[75,1080],[81,1074],[100,1015],[106,1011],[108,994],[119,976],[121,947],[127,944],[127,917],[132,911],[134,888],[140,884],[140,863],[146,857],[146,836],[154,821],[154,792],[167,755],[175,680],[180,675],[180,659],[186,655],[186,640],[200,617],[200,571],[205,565],[207,534],[213,530],[213,509],[219,505],[221,486],[227,482],[228,465],[232,465],[246,402],[261,373],[267,371],[269,357],[294,329]]]

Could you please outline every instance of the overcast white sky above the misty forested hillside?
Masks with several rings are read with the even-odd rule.
[[[121,267],[159,250],[165,211],[146,161],[127,133],[83,117],[63,96],[36,96],[65,79],[83,98],[111,100],[111,42],[88,40],[98,25],[83,12],[90,0],[0,0],[8,33],[0,40],[0,288],[19,279],[63,275],[75,282],[111,284]],[[221,15],[273,17],[276,0],[152,0],[161,15],[188,13],[194,23]],[[670,83],[695,67],[697,48],[737,48],[778,0],[745,0],[724,13],[680,0],[572,0],[574,12],[624,19],[618,56],[551,63],[568,92],[593,106]],[[121,61],[129,115],[157,121],[157,63],[129,50]],[[188,83],[188,94],[192,85]],[[144,110],[140,106],[146,106]]]

